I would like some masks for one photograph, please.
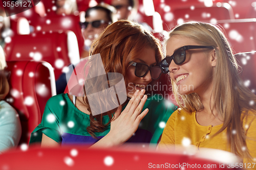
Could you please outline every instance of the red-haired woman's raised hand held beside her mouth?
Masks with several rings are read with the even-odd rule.
[[[144,93],[144,89],[137,90],[122,113],[122,107],[118,107],[115,118],[111,122],[110,132],[92,147],[113,147],[123,144],[132,137],[138,129],[140,121],[148,112],[148,109],[145,109],[141,113],[147,99],[147,95]]]

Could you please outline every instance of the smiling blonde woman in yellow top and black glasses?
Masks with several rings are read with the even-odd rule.
[[[222,31],[187,22],[169,33],[162,72],[169,72],[180,106],[163,131],[159,148],[189,139],[200,148],[240,156],[243,167],[256,162],[256,96],[244,86],[239,66]],[[254,165],[256,168],[256,165]]]

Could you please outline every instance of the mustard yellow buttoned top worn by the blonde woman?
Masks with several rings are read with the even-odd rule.
[[[159,143],[159,148],[165,148],[170,144],[178,147],[179,145],[187,145],[190,143],[196,145],[199,150],[200,148],[212,148],[230,152],[230,148],[227,145],[226,129],[212,137],[212,135],[218,132],[222,126],[223,124],[214,127],[211,125],[201,126],[197,122],[196,112],[187,113],[182,109],[178,109],[169,117],[166,123]],[[253,162],[256,162],[255,114],[250,111],[248,112],[248,116],[243,119],[243,127],[247,136],[247,149],[254,158]],[[244,163],[249,162],[246,159],[243,161]],[[254,165],[254,168],[256,169],[256,164]]]

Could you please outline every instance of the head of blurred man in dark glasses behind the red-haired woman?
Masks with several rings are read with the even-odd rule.
[[[88,57],[91,42],[111,23],[117,21],[115,9],[106,4],[89,8],[85,14],[85,22],[80,22],[84,38],[84,51],[80,58]]]

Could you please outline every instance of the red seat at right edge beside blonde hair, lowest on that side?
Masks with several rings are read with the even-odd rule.
[[[242,67],[240,76],[253,93],[256,93],[256,52],[240,53],[236,55],[238,64]]]

